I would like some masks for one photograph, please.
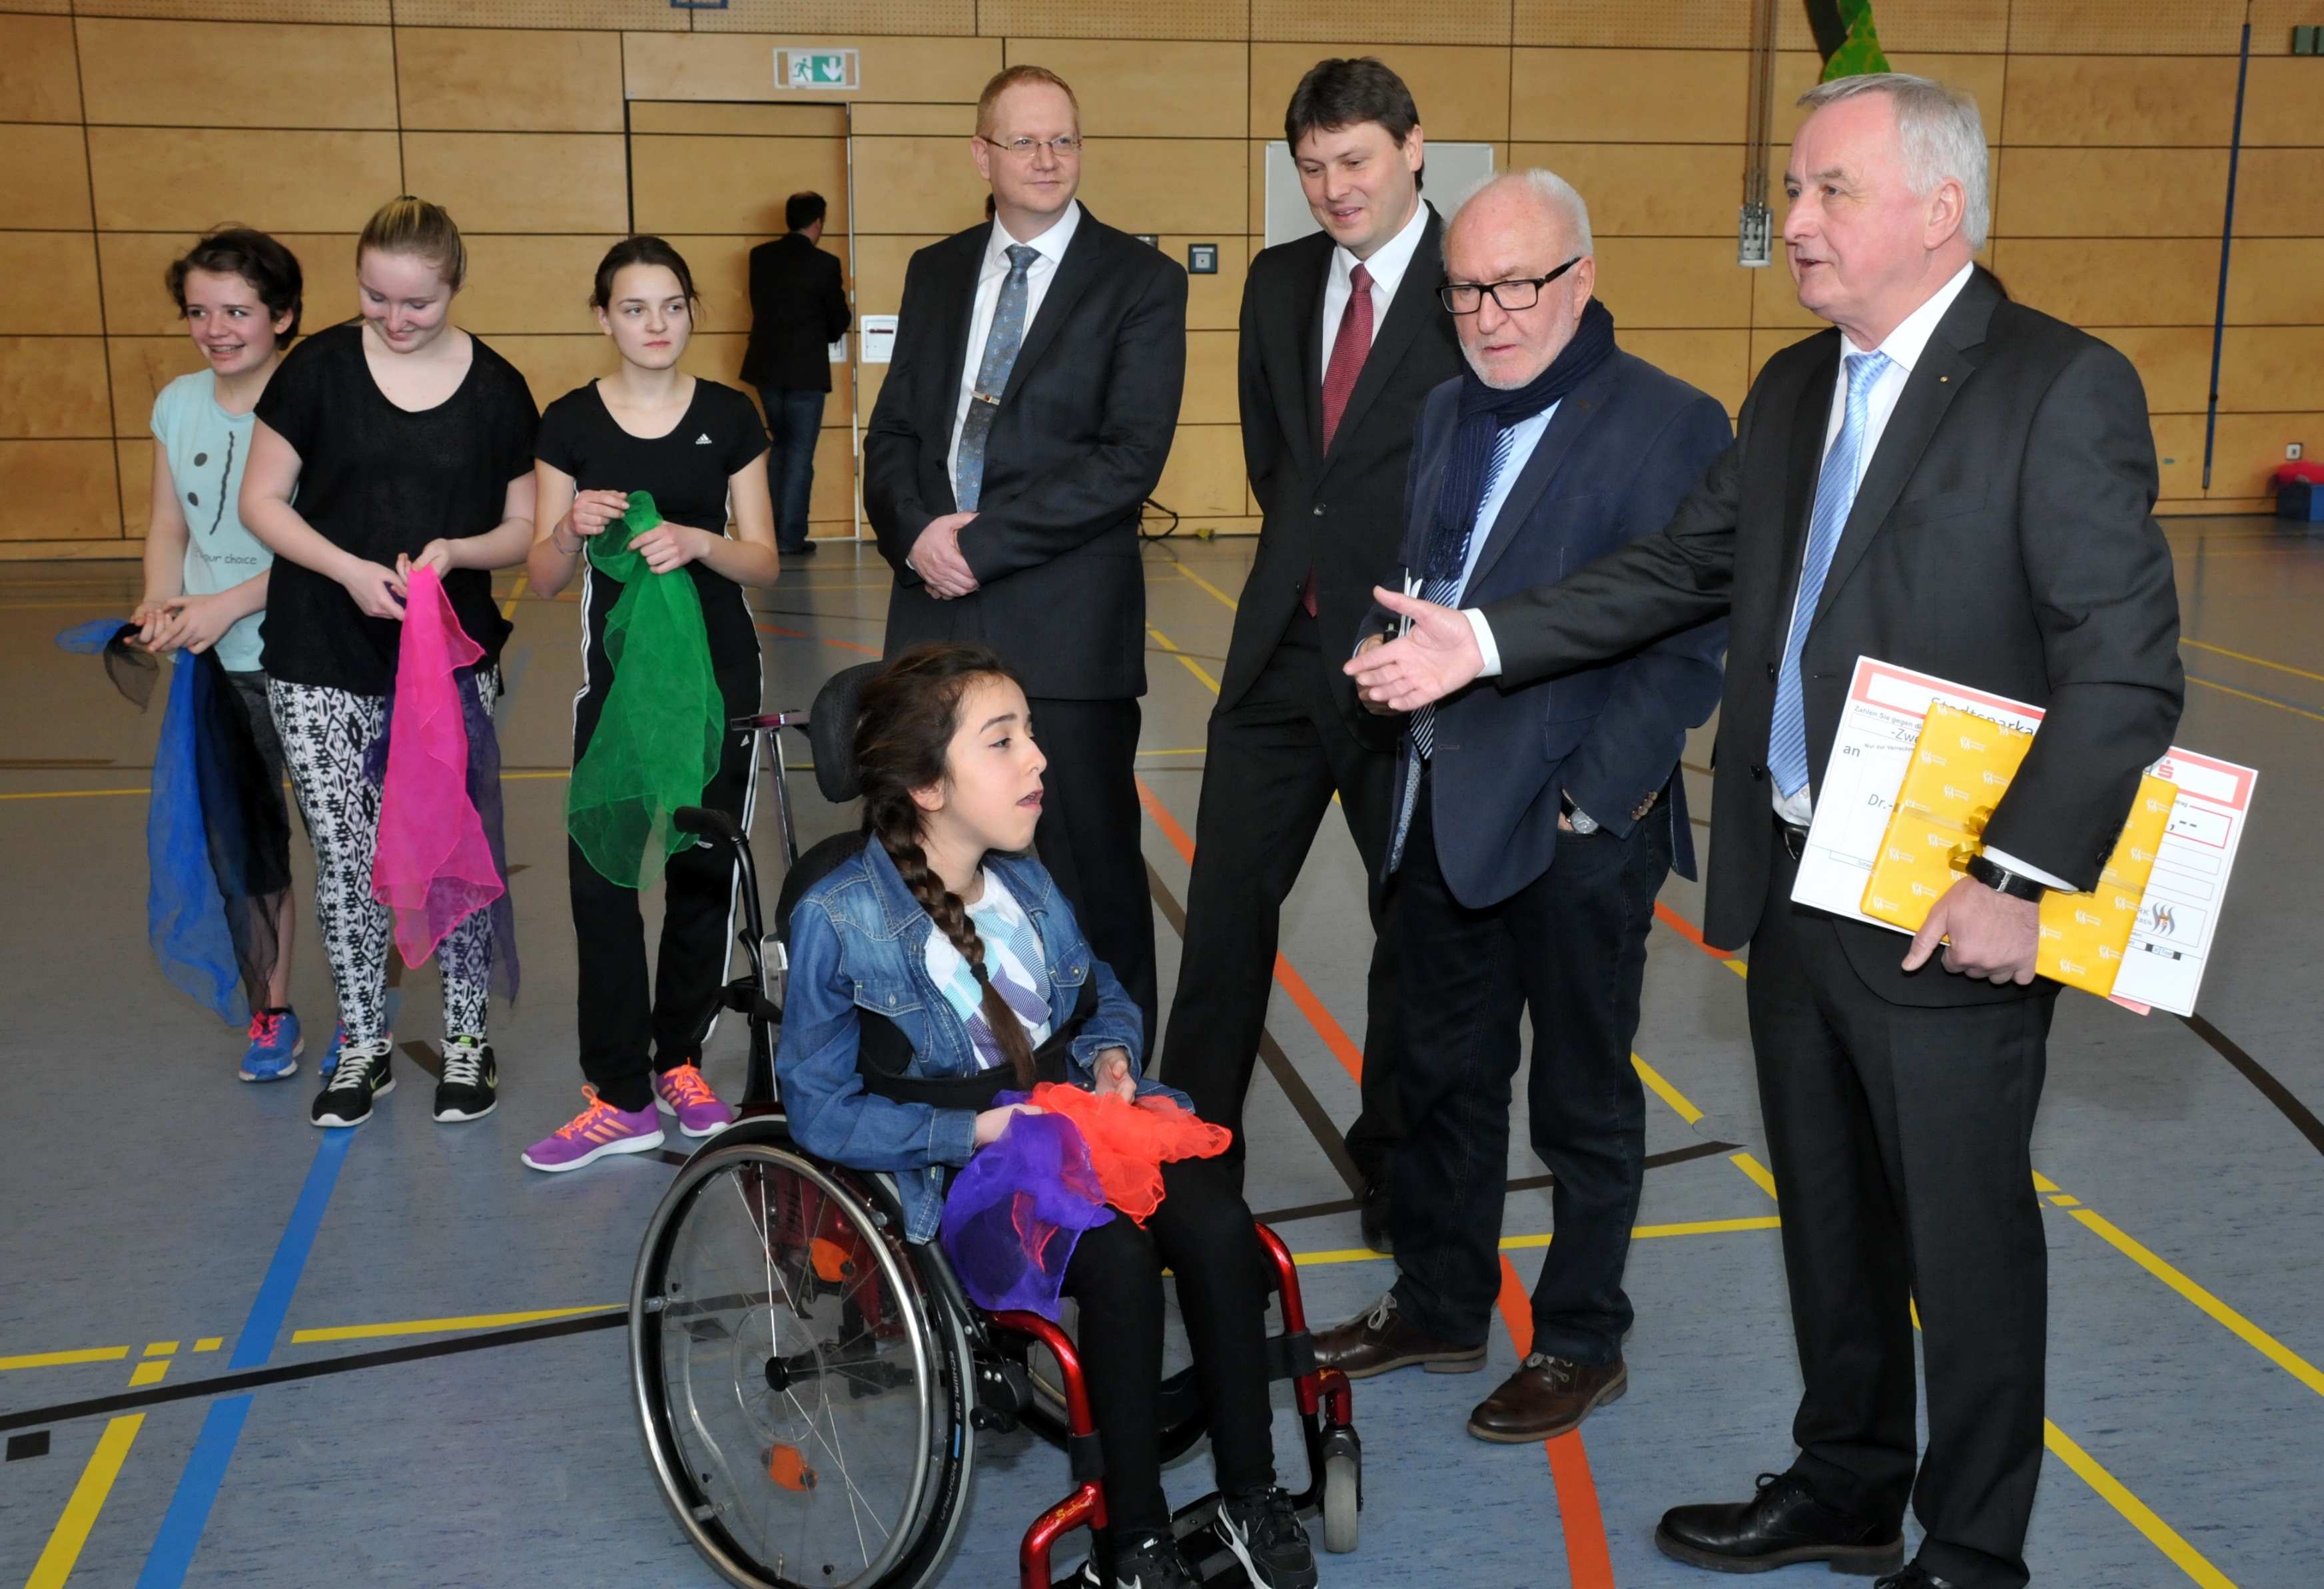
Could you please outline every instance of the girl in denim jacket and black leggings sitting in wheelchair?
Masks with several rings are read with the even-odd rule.
[[[906,1236],[930,1241],[946,1171],[1025,1106],[960,1108],[960,1083],[1071,1080],[1122,1099],[1185,1097],[1139,1073],[1139,1013],[1030,860],[1041,769],[1025,690],[983,646],[918,646],[862,690],[855,722],[865,836],[790,915],[776,1055],[792,1138],[895,1175]],[[881,1018],[865,1022],[862,1013]],[[878,1064],[869,1034],[902,1034]],[[890,1041],[890,1048],[895,1043]],[[867,1085],[867,1071],[878,1090]],[[892,1078],[885,1071],[897,1071]],[[990,1099],[985,1092],[985,1099]],[[971,1090],[974,1094],[974,1090]],[[1211,1159],[1162,1166],[1164,1201],[1083,1231],[1064,1271],[1106,1459],[1118,1589],[1192,1589],[1162,1494],[1162,1268],[1178,1278],[1211,1429],[1222,1519],[1250,1577],[1311,1589],[1315,1559],[1276,1487],[1267,1396],[1267,1282],[1250,1210]]]

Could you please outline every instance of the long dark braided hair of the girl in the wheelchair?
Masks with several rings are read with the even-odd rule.
[[[985,1027],[1018,1087],[1032,1087],[1032,1043],[1016,1008],[985,973],[985,943],[960,894],[927,867],[913,790],[944,781],[946,753],[960,732],[960,702],[983,678],[1016,678],[988,646],[913,646],[869,678],[855,713],[855,774],[865,797],[865,834],[878,839],[904,887],[937,932],[951,939],[983,992]]]

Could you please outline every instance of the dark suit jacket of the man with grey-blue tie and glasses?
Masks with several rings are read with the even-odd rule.
[[[948,453],[992,223],[911,256],[895,362],[865,432],[865,513],[895,567],[888,655],[974,639],[1053,699],[1146,695],[1139,509],[1162,479],[1185,386],[1185,267],[1088,209],[1025,328],[960,551],[981,590],[939,602],[904,567],[955,509]]]

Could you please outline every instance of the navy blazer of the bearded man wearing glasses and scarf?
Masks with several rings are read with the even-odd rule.
[[[1415,569],[1427,562],[1459,386],[1446,381],[1420,409],[1404,488],[1406,590],[1420,588]],[[1618,351],[1557,407],[1494,516],[1462,606],[1552,583],[1662,530],[1731,439],[1715,397]],[[1390,627],[1390,618],[1373,606],[1367,632]],[[1501,688],[1480,678],[1446,697],[1432,778],[1436,864],[1452,897],[1483,908],[1545,873],[1557,855],[1559,792],[1627,839],[1629,813],[1669,788],[1650,820],[1671,822],[1671,864],[1692,878],[1687,788],[1673,774],[1687,729],[1720,704],[1724,650],[1727,623],[1715,618],[1555,681]],[[1401,799],[1401,776],[1397,788]]]

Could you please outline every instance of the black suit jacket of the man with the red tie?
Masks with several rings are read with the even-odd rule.
[[[1362,709],[1339,660],[1355,646],[1371,588],[1397,571],[1404,469],[1420,400],[1459,374],[1452,316],[1436,302],[1441,239],[1443,218],[1432,207],[1413,263],[1373,330],[1329,453],[1322,451],[1322,360],[1339,328],[1322,323],[1322,288],[1334,242],[1329,232],[1311,232],[1250,260],[1241,339],[1243,467],[1264,518],[1227,643],[1220,711],[1257,681],[1315,569],[1315,616],[1341,716],[1357,739],[1380,750],[1394,743],[1397,725]]]

